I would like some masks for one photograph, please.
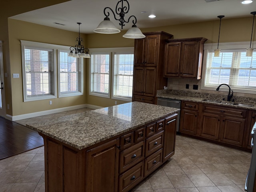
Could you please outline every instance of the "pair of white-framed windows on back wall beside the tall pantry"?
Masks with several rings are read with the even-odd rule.
[[[90,49],[90,95],[131,101],[134,48]]]

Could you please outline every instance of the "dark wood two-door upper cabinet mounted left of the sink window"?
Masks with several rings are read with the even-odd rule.
[[[164,77],[201,79],[206,40],[203,37],[166,40]]]

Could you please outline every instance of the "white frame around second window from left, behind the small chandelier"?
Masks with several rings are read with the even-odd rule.
[[[70,97],[70,96],[78,96],[78,95],[83,95],[84,94],[84,85],[83,85],[83,58],[80,58],[80,91],[76,91],[76,92],[60,92],[60,52],[67,52],[69,53],[70,50],[62,50],[62,49],[58,49],[58,97]]]

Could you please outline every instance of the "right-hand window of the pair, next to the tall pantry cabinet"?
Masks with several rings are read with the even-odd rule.
[[[132,98],[134,54],[114,53],[114,98]]]

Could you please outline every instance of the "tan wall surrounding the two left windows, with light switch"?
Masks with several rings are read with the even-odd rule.
[[[56,45],[74,46],[78,32],[70,32],[57,28],[32,24],[14,19],[8,19],[9,26],[9,45],[10,45],[10,74],[12,84],[12,111],[13,116],[63,108],[68,106],[76,106],[86,104],[86,95],[72,96],[64,98],[47,99],[40,101],[23,102],[22,91],[22,56],[20,40],[28,40],[34,42],[43,42]],[[81,34],[86,44],[86,36]],[[13,73],[19,73],[20,78],[12,78]],[[86,82],[86,74],[84,74],[84,82]],[[84,91],[86,84],[84,84]],[[49,105],[52,100],[52,105]],[[9,104],[9,103],[7,103]]]

